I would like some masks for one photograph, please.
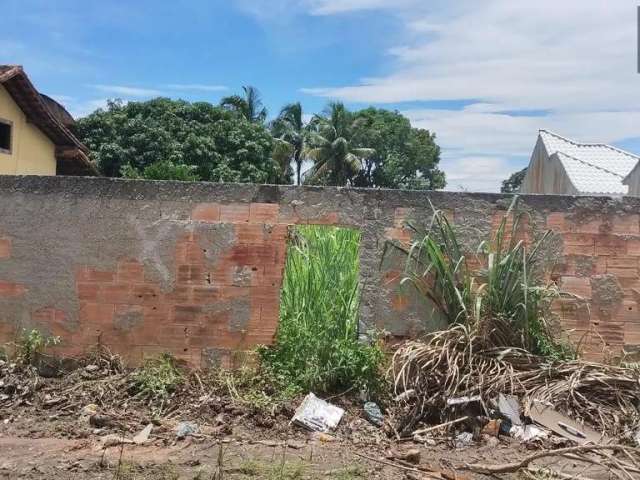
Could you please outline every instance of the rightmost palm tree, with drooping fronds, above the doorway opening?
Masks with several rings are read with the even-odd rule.
[[[314,161],[307,180],[328,185],[347,185],[358,173],[362,160],[373,155],[372,148],[356,148],[352,142],[353,117],[344,104],[332,102],[324,115],[311,121],[309,146],[304,157]]]

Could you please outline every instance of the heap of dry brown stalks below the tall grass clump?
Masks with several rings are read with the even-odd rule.
[[[488,348],[464,326],[404,343],[395,352],[391,373],[400,435],[434,412],[446,412],[449,398],[480,395],[486,402],[498,393],[517,395],[525,403],[550,402],[610,436],[630,435],[640,424],[640,369],[552,362],[517,348]]]

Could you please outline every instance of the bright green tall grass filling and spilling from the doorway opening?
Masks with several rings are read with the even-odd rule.
[[[299,226],[289,245],[273,347],[265,368],[303,390],[374,389],[383,352],[358,339],[360,232]]]

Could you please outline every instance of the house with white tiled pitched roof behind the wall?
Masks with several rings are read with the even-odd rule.
[[[579,143],[540,130],[520,192],[637,195],[639,162],[640,157],[610,145]]]

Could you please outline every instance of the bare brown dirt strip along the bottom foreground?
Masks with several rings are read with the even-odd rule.
[[[414,443],[375,444],[338,435],[327,437],[330,441],[326,441],[324,436],[308,434],[297,427],[273,436],[267,431],[239,427],[221,438],[203,435],[185,440],[168,440],[165,435],[155,435],[154,440],[152,432],[147,444],[106,446],[99,433],[65,438],[73,437],[69,433],[74,429],[82,432],[83,426],[71,418],[51,420],[45,412],[42,416],[20,416],[3,422],[0,478],[212,479],[220,478],[220,470],[222,478],[228,479],[433,478],[383,463],[396,462],[386,458],[391,451],[416,447],[421,453],[420,468],[443,471],[449,478],[481,478],[462,471],[456,477],[452,467],[473,461],[513,461],[526,454],[507,440],[458,449],[446,441],[428,447]]]

